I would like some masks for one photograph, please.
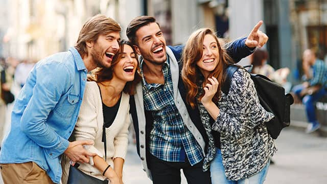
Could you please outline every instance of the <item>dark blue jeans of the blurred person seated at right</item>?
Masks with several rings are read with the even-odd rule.
[[[294,92],[294,94],[300,97],[300,93],[303,88],[304,87],[302,86],[302,84],[299,84],[294,86],[292,91]],[[317,123],[315,103],[325,94],[327,94],[326,89],[321,88],[316,93],[303,97],[302,103],[306,106],[307,118],[310,123]]]

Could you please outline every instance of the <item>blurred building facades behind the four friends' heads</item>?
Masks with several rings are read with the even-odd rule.
[[[138,15],[155,16],[168,44],[184,43],[200,27],[230,40],[261,30],[274,68],[301,66],[301,54],[314,48],[327,52],[327,0],[0,0],[0,53],[41,59],[65,51],[77,40],[87,18],[101,13],[120,22],[125,31]],[[247,60],[244,60],[247,62]],[[292,80],[292,76],[291,80]]]

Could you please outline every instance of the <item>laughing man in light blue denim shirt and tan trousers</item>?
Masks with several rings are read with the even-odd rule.
[[[87,20],[75,47],[39,61],[16,98],[11,128],[0,152],[5,183],[59,183],[59,158],[88,163],[96,153],[69,142],[82,103],[86,74],[110,67],[119,49],[121,27],[104,15]]]

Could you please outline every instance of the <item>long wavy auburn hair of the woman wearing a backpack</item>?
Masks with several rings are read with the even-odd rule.
[[[218,92],[213,98],[214,102],[219,101],[220,89],[223,81],[225,80],[225,70],[227,66],[234,63],[228,56],[226,50],[221,47],[218,37],[212,29],[202,28],[191,34],[185,44],[185,48],[182,53],[183,68],[181,75],[186,87],[186,91],[188,91],[186,94],[186,102],[189,103],[192,108],[195,108],[197,101],[201,101],[202,97],[204,96],[204,93],[202,93],[200,97],[196,99],[196,96],[199,93],[197,84],[202,81],[202,86],[204,87],[205,84],[209,83],[208,79],[203,79],[204,77],[196,65],[197,61],[202,58],[203,40],[204,36],[207,34],[212,35],[216,39],[218,45],[217,49],[219,51],[218,65],[216,66],[215,70],[212,71],[208,76],[208,78],[217,78],[219,82],[217,90]]]

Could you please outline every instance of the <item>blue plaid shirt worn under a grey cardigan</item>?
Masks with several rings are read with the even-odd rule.
[[[149,150],[155,157],[168,162],[184,162],[185,154],[194,166],[203,159],[201,147],[185,127],[175,105],[169,57],[162,67],[165,84],[148,84],[143,77],[144,106],[154,119]],[[141,61],[141,73],[143,60]]]

